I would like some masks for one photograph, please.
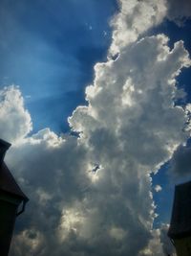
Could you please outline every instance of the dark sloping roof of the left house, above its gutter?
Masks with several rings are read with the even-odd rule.
[[[0,166],[0,191],[7,192],[12,196],[21,198],[24,201],[28,201],[29,198],[25,196],[14,177],[11,175],[10,170],[3,162]]]

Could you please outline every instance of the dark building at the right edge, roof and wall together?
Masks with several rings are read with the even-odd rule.
[[[178,256],[191,256],[191,181],[175,187],[168,236]]]

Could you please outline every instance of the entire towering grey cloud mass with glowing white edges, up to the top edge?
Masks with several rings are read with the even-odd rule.
[[[96,64],[88,105],[69,118],[78,137],[49,128],[26,137],[31,119],[18,88],[1,92],[4,105],[11,90],[18,95],[8,109],[22,126],[9,133],[15,144],[7,162],[31,198],[11,256],[160,256],[172,249],[163,242],[166,227],[153,229],[150,175],[190,136],[189,112],[174,103],[176,78],[190,59],[182,41],[169,49],[166,35],[145,35],[164,17],[163,1],[120,4],[113,58]]]

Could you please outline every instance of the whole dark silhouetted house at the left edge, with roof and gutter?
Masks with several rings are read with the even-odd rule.
[[[0,139],[0,255],[8,256],[16,217],[24,212],[25,196],[4,162],[11,144]]]

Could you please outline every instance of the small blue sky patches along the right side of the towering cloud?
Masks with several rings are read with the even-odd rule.
[[[191,21],[186,20],[183,26],[178,26],[176,23],[165,20],[158,28],[154,29],[156,33],[163,33],[168,35],[169,46],[172,47],[173,44],[178,40],[183,40],[185,48],[191,53],[191,40],[189,37],[189,32],[191,32]],[[186,96],[183,100],[178,102],[178,105],[185,105],[191,102],[191,72],[190,69],[183,69],[177,79],[177,84],[180,88],[186,92]],[[189,141],[188,141],[189,143]],[[163,190],[160,193],[155,193],[154,198],[156,199],[159,212],[159,218],[156,220],[156,224],[159,225],[162,221],[169,221],[171,217],[171,210],[173,205],[174,197],[174,182],[170,182],[170,177],[168,176],[167,170],[169,169],[169,163],[167,162],[160,170],[158,175],[154,175],[154,184],[162,184]],[[184,182],[188,177],[182,178],[182,180],[177,183]]]

